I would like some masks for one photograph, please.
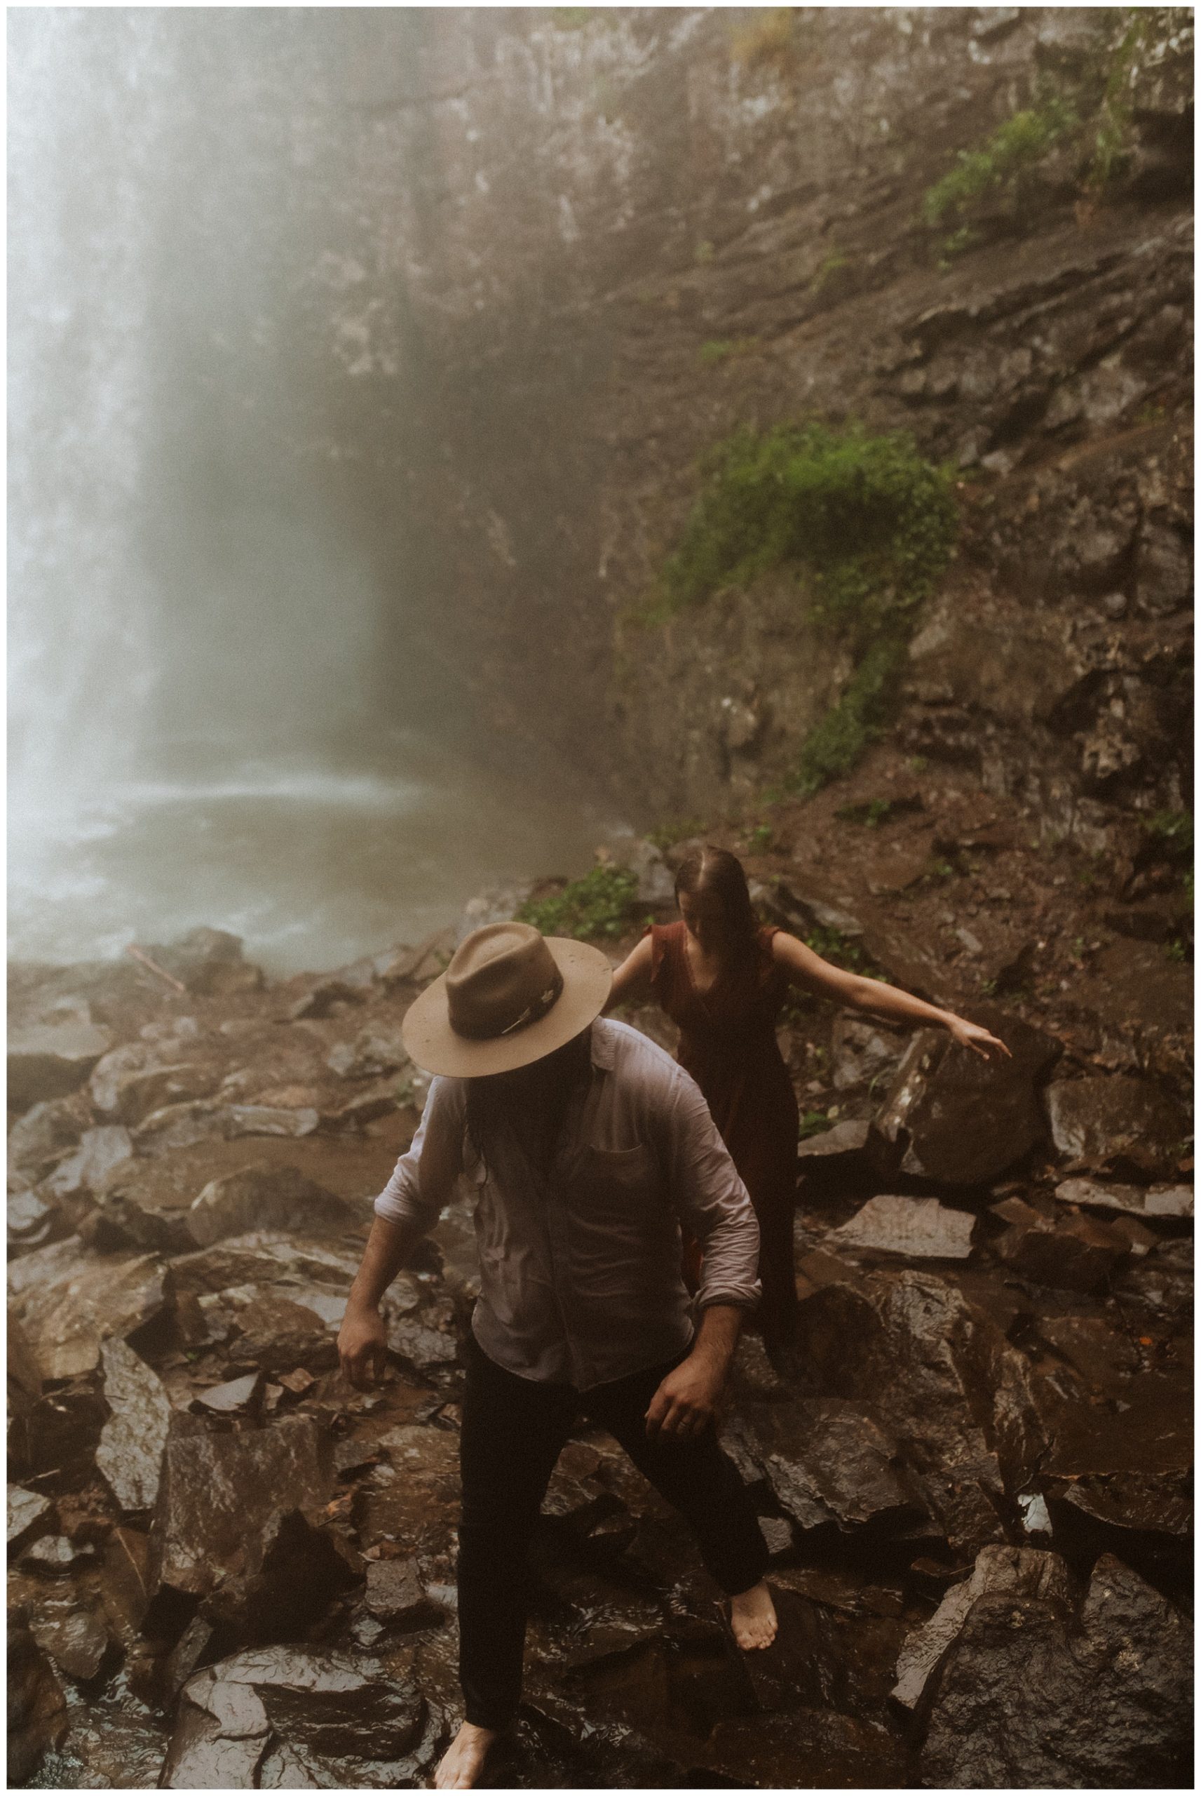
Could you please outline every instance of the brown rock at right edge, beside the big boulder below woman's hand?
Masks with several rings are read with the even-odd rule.
[[[1183,1110],[1149,1079],[1057,1079],[1047,1087],[1050,1133],[1081,1171],[1163,1178],[1188,1133]]]

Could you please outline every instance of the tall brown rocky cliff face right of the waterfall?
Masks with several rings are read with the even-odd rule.
[[[1185,14],[447,9],[406,29],[400,93],[375,27],[370,104],[404,169],[411,541],[494,720],[553,733],[657,815],[786,779],[849,677],[795,584],[666,627],[628,612],[697,456],[820,415],[908,431],[959,480],[896,744],[1093,846],[1113,806],[1178,808]],[[935,219],[959,153],[975,187],[944,185]]]

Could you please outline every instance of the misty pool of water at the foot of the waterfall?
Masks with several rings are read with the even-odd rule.
[[[416,943],[488,885],[578,875],[619,832],[548,779],[411,740],[402,774],[303,763],[9,814],[9,954],[79,961],[208,923],[271,973]]]

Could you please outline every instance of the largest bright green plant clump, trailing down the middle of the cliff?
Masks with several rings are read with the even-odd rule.
[[[914,614],[953,553],[953,472],[923,460],[908,436],[811,420],[738,429],[702,474],[643,620],[661,623],[781,564],[808,569],[810,614],[855,659],[846,691],[801,751],[793,785],[817,792],[889,720]]]

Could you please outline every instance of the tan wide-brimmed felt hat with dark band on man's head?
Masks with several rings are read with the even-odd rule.
[[[600,1017],[612,966],[600,948],[488,923],[454,950],[400,1026],[418,1067],[458,1079],[512,1072],[553,1054]]]

